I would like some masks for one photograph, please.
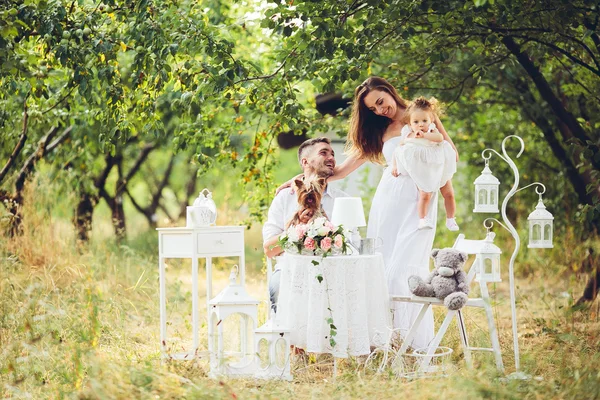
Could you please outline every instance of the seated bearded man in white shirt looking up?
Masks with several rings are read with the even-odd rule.
[[[331,148],[331,141],[325,137],[309,139],[298,148],[298,161],[306,179],[314,177],[329,178],[335,168],[335,153]],[[326,186],[323,193],[323,210],[328,217],[333,211],[333,201],[336,197],[348,196],[341,190]],[[283,252],[276,246],[279,235],[284,231],[287,222],[298,210],[298,201],[291,188],[281,190],[273,199],[269,208],[267,222],[263,226],[263,249],[267,257],[275,257]],[[276,309],[279,295],[279,269],[276,268],[269,281],[271,304]]]

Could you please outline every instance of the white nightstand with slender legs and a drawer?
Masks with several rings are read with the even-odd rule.
[[[160,346],[163,358],[191,360],[208,355],[198,351],[200,316],[198,312],[198,258],[206,259],[206,307],[212,299],[212,258],[239,257],[241,284],[246,283],[244,226],[208,226],[205,228],[158,228],[158,270],[160,280]],[[166,258],[192,259],[193,348],[185,353],[167,354]],[[207,314],[208,315],[208,314]],[[212,333],[208,324],[209,337]]]

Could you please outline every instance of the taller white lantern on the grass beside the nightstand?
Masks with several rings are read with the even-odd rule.
[[[209,303],[210,376],[253,376],[256,370],[252,336],[258,301],[236,283],[238,266],[229,275],[229,286]]]

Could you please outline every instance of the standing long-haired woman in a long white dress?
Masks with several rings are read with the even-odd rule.
[[[381,252],[390,295],[405,296],[411,294],[409,276],[429,274],[429,255],[437,220],[437,192],[431,196],[428,207],[428,218],[434,221],[434,225],[432,229],[419,230],[419,190],[410,176],[392,175],[393,153],[400,142],[402,127],[409,122],[406,115],[408,106],[409,102],[400,97],[396,89],[383,78],[373,76],[359,85],[354,91],[347,142],[348,158],[335,168],[334,175],[329,178],[344,178],[366,161],[387,164],[371,204],[367,236],[383,240]],[[456,151],[437,115],[433,123]],[[453,198],[444,200],[454,203]],[[421,306],[397,302],[392,307],[394,328],[404,335]],[[433,333],[433,314],[430,310],[410,345],[427,346],[433,339]]]

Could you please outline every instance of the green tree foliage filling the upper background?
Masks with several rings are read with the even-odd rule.
[[[97,195],[107,154],[126,170],[153,144],[192,158],[201,175],[239,168],[249,217],[260,220],[281,172],[277,135],[345,135],[349,110],[321,117],[314,95],[351,97],[378,74],[407,98],[445,101],[444,122],[476,170],[485,146],[522,135],[527,179],[543,178],[554,205],[566,193],[570,216],[599,221],[592,2],[22,0],[0,13],[3,159],[26,104],[19,160],[51,126],[73,126],[69,146],[48,157],[86,193]]]

